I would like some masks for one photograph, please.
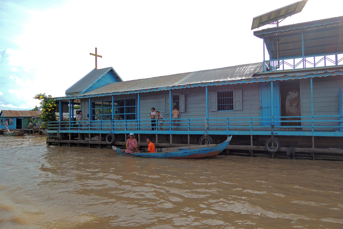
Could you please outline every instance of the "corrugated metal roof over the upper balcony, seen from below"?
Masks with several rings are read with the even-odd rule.
[[[256,31],[269,56],[276,58],[336,54],[343,51],[343,16]],[[279,42],[277,48],[277,42]],[[304,50],[303,50],[303,48]],[[279,53],[277,53],[279,50]]]

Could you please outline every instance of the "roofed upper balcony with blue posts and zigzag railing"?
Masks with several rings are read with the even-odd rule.
[[[342,30],[343,16],[255,31],[263,39],[263,71],[343,65]]]

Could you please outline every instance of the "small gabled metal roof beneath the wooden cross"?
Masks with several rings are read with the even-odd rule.
[[[109,70],[114,72],[114,74],[117,76],[119,81],[122,81],[122,79],[118,76],[117,72],[112,67],[102,68],[102,69],[93,69],[83,78],[81,78],[78,82],[74,83],[70,88],[68,88],[66,90],[66,93],[82,92],[84,89],[90,87],[90,85],[95,83],[99,78],[101,78]]]

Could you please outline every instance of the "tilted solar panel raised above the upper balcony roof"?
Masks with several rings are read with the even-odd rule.
[[[308,0],[301,0],[285,7],[270,11],[252,19],[251,29],[261,27],[285,19],[288,16],[301,12]]]

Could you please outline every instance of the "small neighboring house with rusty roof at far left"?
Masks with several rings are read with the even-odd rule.
[[[23,129],[28,126],[31,118],[36,118],[36,122],[39,121],[39,117],[42,111],[11,111],[2,110],[0,112],[0,127],[5,128],[5,122],[8,122],[9,129]]]

